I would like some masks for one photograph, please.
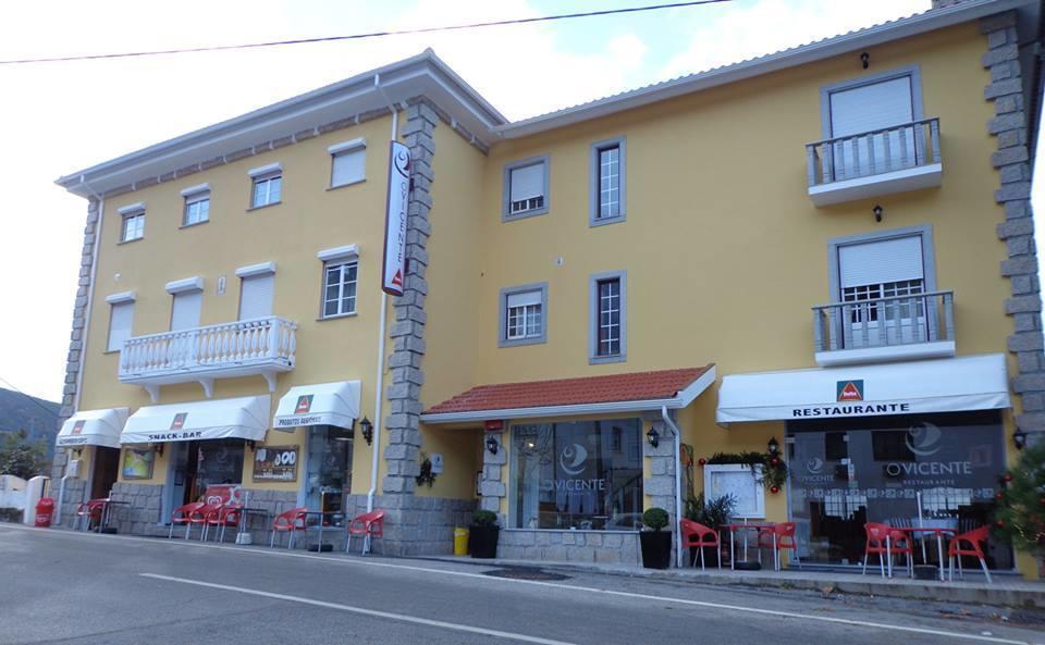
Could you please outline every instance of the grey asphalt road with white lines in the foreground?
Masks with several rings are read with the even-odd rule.
[[[0,524],[0,644],[1045,644],[989,610]]]

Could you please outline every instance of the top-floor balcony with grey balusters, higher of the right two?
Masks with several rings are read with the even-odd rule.
[[[817,207],[941,185],[939,119],[806,146],[809,197]]]

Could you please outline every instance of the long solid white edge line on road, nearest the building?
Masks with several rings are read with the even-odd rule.
[[[485,582],[503,582],[503,583],[514,583],[514,584],[529,584],[536,586],[553,587],[561,588],[566,591],[574,592],[589,592],[593,594],[605,594],[608,596],[619,596],[627,598],[637,598],[642,600],[651,600],[654,603],[676,603],[679,605],[688,605],[692,607],[705,607],[710,609],[726,609],[730,611],[746,612],[746,613],[758,613],[763,616],[774,616],[779,618],[794,618],[799,620],[811,620],[819,622],[829,622],[835,624],[847,624],[852,627],[863,627],[877,630],[888,630],[888,631],[898,631],[898,632],[908,632],[917,634],[929,634],[934,636],[945,636],[949,638],[961,638],[966,641],[978,641],[981,643],[1003,643],[1005,645],[1033,645],[1029,641],[1013,641],[1010,638],[998,638],[994,636],[982,636],[980,634],[968,634],[961,632],[948,632],[944,630],[936,630],[931,628],[917,628],[917,627],[906,627],[906,625],[896,625],[896,624],[886,624],[871,622],[866,620],[858,620],[850,618],[831,618],[827,616],[808,616],[803,613],[795,613],[790,611],[782,611],[777,609],[760,609],[757,607],[743,607],[740,605],[726,605],[722,603],[709,603],[704,600],[688,600],[684,598],[673,598],[671,596],[654,596],[650,594],[639,594],[635,592],[618,592],[613,590],[602,590],[598,587],[588,587],[588,586],[577,586],[570,584],[555,583],[555,582],[542,582],[538,580],[513,580],[506,578],[492,578],[484,575],[482,573],[468,573],[466,571],[453,571],[451,569],[434,569],[431,567],[415,567],[410,565],[393,565],[390,562],[374,562],[372,560],[362,560],[355,558],[345,558],[345,557],[330,557],[330,556],[320,556],[320,555],[308,555],[308,554],[295,554],[295,553],[285,553],[275,549],[266,549],[266,550],[254,550],[249,547],[244,546],[230,546],[230,545],[218,545],[218,544],[201,544],[198,542],[188,542],[185,539],[176,538],[172,541],[160,541],[151,537],[137,537],[131,535],[98,535],[97,533],[76,533],[76,532],[64,532],[64,531],[47,531],[45,529],[32,529],[26,526],[27,531],[39,531],[45,532],[48,535],[67,535],[76,537],[95,537],[95,538],[106,538],[106,539],[126,539],[134,542],[145,542],[148,544],[156,545],[173,545],[173,546],[185,546],[185,547],[195,547],[195,548],[210,548],[217,550],[228,550],[237,554],[251,555],[251,556],[281,556],[285,558],[302,558],[307,560],[322,560],[324,562],[333,562],[340,565],[357,566],[357,567],[374,567],[383,569],[402,569],[406,571],[419,571],[425,573],[434,573],[437,575],[456,575],[459,578],[471,578],[477,580],[483,580]]]

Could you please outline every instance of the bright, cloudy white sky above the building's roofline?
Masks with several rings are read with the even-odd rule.
[[[655,0],[11,2],[0,60],[357,34]],[[927,9],[734,0],[618,16],[235,52],[0,65],[0,387],[61,398],[86,201],[64,174],[431,47],[516,120]],[[7,382],[7,383],[4,383]]]

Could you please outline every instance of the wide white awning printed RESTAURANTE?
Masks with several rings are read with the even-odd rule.
[[[1005,356],[733,374],[718,389],[720,424],[1008,408]]]

